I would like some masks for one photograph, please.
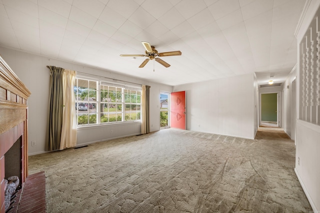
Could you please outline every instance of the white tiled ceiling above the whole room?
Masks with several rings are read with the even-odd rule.
[[[0,0],[0,45],[168,85],[256,72],[285,80],[305,0]],[[148,62],[141,41],[168,68]],[[154,72],[153,72],[154,67]],[[68,67],[64,67],[68,68]]]

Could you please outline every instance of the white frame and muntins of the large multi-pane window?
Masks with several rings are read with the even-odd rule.
[[[83,86],[79,86],[79,83],[78,83],[79,80],[87,81],[88,87],[83,88]],[[92,81],[96,83],[96,87],[93,89],[90,89],[89,85],[90,85],[90,82],[92,84]],[[105,90],[105,88],[107,88],[107,90]],[[79,99],[79,90],[86,90],[86,89],[87,89],[88,97],[85,97],[83,99],[84,96],[82,95],[82,98]],[[129,123],[129,122],[141,122],[141,91],[142,91],[141,86],[127,85],[123,83],[114,83],[114,82],[110,82],[110,81],[99,79],[99,78],[91,78],[87,76],[77,75],[75,77],[73,90],[75,93],[75,108],[76,108],[75,116],[76,116],[77,128]],[[95,91],[95,97],[90,97],[90,93],[94,94],[94,92],[92,91]],[[127,91],[130,91],[130,95],[131,95],[131,92],[133,92],[136,95],[135,102],[139,101],[139,103],[125,102],[125,94],[127,94],[125,92]],[[105,92],[107,94],[105,94]],[[111,94],[110,94],[111,92],[113,93],[112,96],[115,99],[113,97],[111,98]],[[103,95],[103,98],[102,98],[102,95]],[[93,101],[91,99],[93,99]],[[130,101],[132,100],[130,99]],[[83,111],[78,110],[78,105],[82,103],[86,104],[87,110],[85,109]],[[95,106],[95,107],[90,108],[91,104],[92,106]],[[104,104],[104,106],[102,104]],[[125,106],[127,104],[130,104],[129,119],[126,119],[127,117],[125,117],[128,114],[125,109]],[[114,110],[110,111],[111,105],[112,105],[112,108],[115,108],[115,111]],[[135,107],[135,111],[132,112],[131,111],[131,107],[133,107],[132,105],[139,106],[139,107]],[[105,106],[107,106],[106,107],[107,111],[104,111]],[[102,114],[103,114],[103,117],[104,116],[107,117],[106,120],[101,120]],[[113,120],[114,114],[115,114],[115,120]],[[83,115],[88,116],[87,122],[86,123],[83,122],[82,124],[79,124],[79,116],[83,116]],[[95,115],[95,118],[93,118],[94,117],[93,115]],[[133,115],[133,119],[132,119],[132,115]],[[135,115],[135,119],[134,119],[134,115]],[[92,117],[89,117],[89,116],[92,116]],[[84,117],[85,116],[82,117],[82,120],[85,121]],[[112,118],[111,121],[110,121],[110,118]],[[120,120],[118,120],[119,118]],[[92,123],[92,121],[94,121],[94,123]]]

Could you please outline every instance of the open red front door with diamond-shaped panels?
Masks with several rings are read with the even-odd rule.
[[[171,93],[170,127],[185,130],[185,91]]]

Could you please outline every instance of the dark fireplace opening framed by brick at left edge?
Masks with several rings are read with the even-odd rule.
[[[21,147],[22,136],[20,136],[12,147],[4,154],[4,179],[17,176],[19,180],[22,180]],[[21,187],[21,181],[19,187]]]

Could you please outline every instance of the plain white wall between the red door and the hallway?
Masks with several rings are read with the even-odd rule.
[[[253,74],[174,86],[186,92],[188,130],[253,139]]]

